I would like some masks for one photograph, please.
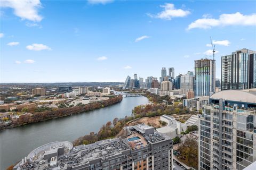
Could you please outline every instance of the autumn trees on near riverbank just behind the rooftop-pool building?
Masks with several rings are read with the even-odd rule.
[[[113,122],[107,122],[106,125],[103,125],[98,133],[91,132],[83,137],[79,137],[73,141],[73,145],[88,145],[100,140],[114,138],[123,130],[125,124],[131,120],[133,120],[133,117],[125,116],[125,118],[121,119],[115,118]]]

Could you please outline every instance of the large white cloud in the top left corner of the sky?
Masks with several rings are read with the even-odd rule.
[[[19,16],[22,20],[30,20],[34,22],[39,22],[43,19],[43,17],[38,14],[38,8],[41,8],[41,5],[40,0],[1,1],[1,7],[13,8],[16,16]]]

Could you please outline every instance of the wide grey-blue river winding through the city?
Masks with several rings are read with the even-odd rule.
[[[90,132],[97,133],[103,124],[115,117],[132,114],[135,106],[147,104],[146,97],[125,97],[121,103],[73,116],[5,129],[0,133],[1,168],[15,164],[33,149],[53,141],[74,141]]]

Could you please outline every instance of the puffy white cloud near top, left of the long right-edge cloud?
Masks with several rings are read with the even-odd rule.
[[[164,8],[164,11],[157,13],[156,15],[147,14],[151,18],[159,18],[164,20],[171,20],[176,17],[184,17],[190,14],[190,11],[175,9],[174,4],[165,3],[165,5],[160,5]]]

